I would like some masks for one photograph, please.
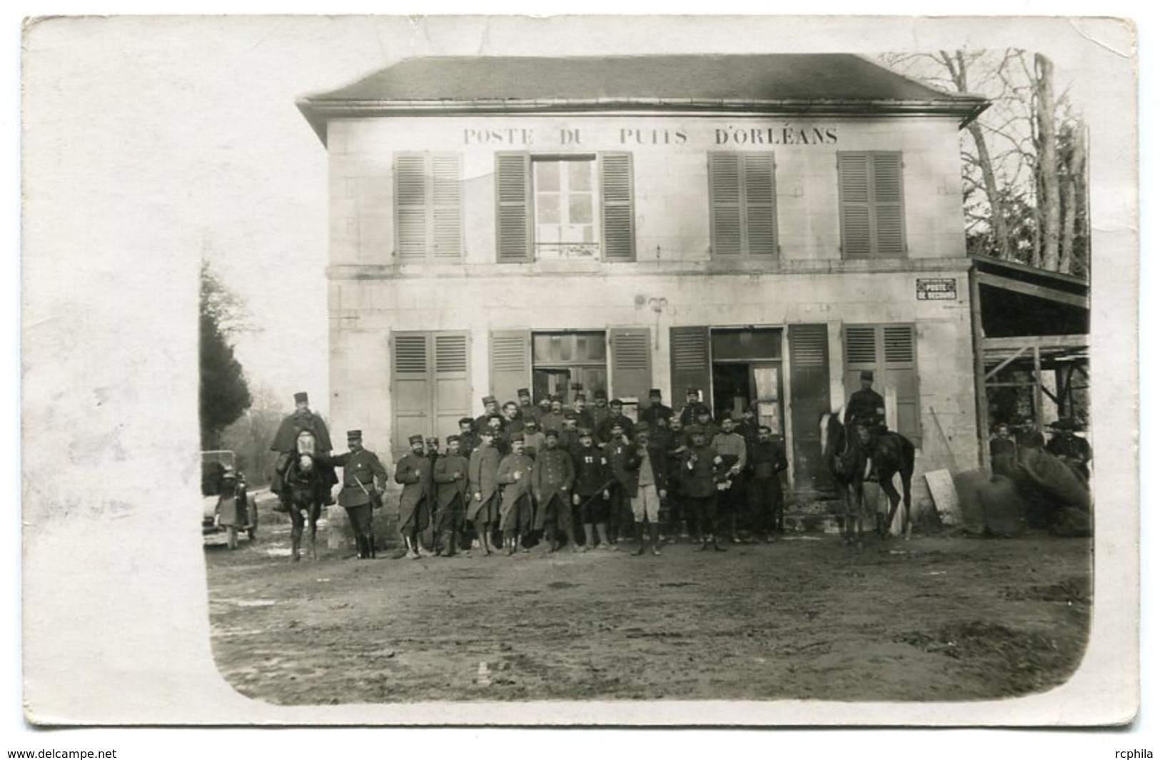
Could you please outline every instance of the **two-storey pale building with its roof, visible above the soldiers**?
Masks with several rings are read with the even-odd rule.
[[[487,395],[631,415],[697,388],[756,404],[810,490],[870,369],[919,472],[978,466],[959,129],[985,107],[841,55],[423,58],[304,97],[332,417],[393,457]]]

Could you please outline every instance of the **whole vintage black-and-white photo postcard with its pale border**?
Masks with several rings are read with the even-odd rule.
[[[1130,21],[22,42],[31,725],[1136,716]]]

